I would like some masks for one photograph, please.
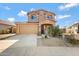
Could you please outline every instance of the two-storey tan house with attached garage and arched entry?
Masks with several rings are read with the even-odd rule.
[[[27,13],[28,22],[17,22],[17,34],[44,34],[49,26],[55,26],[55,14],[46,10],[36,10]]]

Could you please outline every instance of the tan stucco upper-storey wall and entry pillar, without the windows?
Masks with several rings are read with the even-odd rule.
[[[37,19],[36,20],[32,20],[31,16],[32,15],[36,15]],[[47,16],[52,16],[52,19],[47,19]],[[55,14],[45,11],[45,10],[37,10],[37,11],[32,11],[28,14],[28,22],[39,22],[39,33],[41,33],[41,25],[42,24],[51,24],[53,26],[55,26]]]

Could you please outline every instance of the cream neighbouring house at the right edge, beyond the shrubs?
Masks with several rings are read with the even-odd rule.
[[[75,23],[68,28],[66,28],[65,31],[66,34],[79,34],[79,23]]]

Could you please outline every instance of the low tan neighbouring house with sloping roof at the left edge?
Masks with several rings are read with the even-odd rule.
[[[15,26],[12,22],[0,20],[0,34],[13,33]]]

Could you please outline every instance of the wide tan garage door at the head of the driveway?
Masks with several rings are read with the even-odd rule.
[[[38,33],[38,24],[20,24],[19,26],[20,34],[37,34]]]

